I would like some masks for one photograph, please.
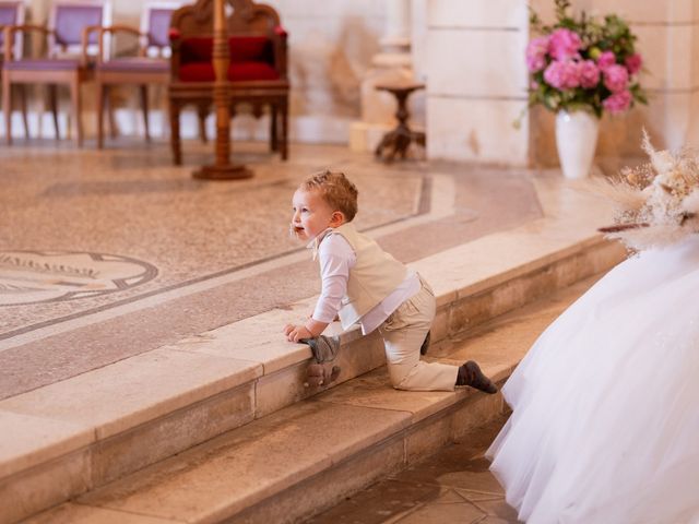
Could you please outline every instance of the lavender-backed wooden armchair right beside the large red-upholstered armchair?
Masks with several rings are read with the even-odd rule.
[[[95,83],[97,88],[97,147],[104,145],[104,109],[109,99],[109,87],[112,85],[134,84],[139,86],[145,140],[150,142],[147,85],[167,84],[170,80],[168,31],[173,12],[181,3],[149,2],[144,5],[140,31],[125,25],[114,25],[99,29],[99,50],[95,66]],[[103,47],[106,37],[130,35],[138,38],[135,56],[119,56],[105,59]],[[114,45],[112,47],[116,47]],[[114,134],[114,129],[112,129]]]

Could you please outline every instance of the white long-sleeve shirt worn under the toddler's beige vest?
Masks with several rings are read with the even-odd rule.
[[[342,298],[347,291],[350,270],[356,263],[356,254],[342,235],[321,234],[318,246],[320,277],[322,288],[312,318],[318,322],[330,323],[341,308]],[[315,242],[312,242],[315,245]],[[417,274],[408,269],[405,279],[381,302],[359,319],[365,335],[376,330],[395,309],[419,290]]]

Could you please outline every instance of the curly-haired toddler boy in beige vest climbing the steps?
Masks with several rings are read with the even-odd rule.
[[[357,194],[342,172],[331,171],[309,177],[294,193],[292,230],[310,241],[322,289],[310,319],[284,327],[288,341],[318,337],[339,314],[344,330],[356,322],[365,335],[379,330],[393,388],[452,391],[470,385],[496,393],[473,360],[451,366],[419,359],[435,318],[435,295],[422,276],[356,230]]]

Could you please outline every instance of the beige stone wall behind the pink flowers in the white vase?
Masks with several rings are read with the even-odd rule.
[[[553,10],[546,9],[552,2],[532,3],[553,20]],[[699,56],[699,1],[578,0],[574,5],[599,15],[613,12],[624,16],[638,36],[647,70],[641,82],[648,91],[649,105],[637,106],[624,116],[603,118],[597,162],[614,170],[620,167],[615,158],[641,156],[643,128],[656,146],[698,147],[699,62],[692,57]],[[532,111],[530,129],[532,162],[555,165],[553,115],[541,108]]]

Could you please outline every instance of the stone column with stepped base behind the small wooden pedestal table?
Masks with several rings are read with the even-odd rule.
[[[350,129],[353,151],[372,151],[383,133],[395,127],[395,99],[375,86],[382,82],[412,81],[411,0],[383,0],[386,28],[380,39],[381,52],[374,56],[371,68],[362,81],[362,120]]]

